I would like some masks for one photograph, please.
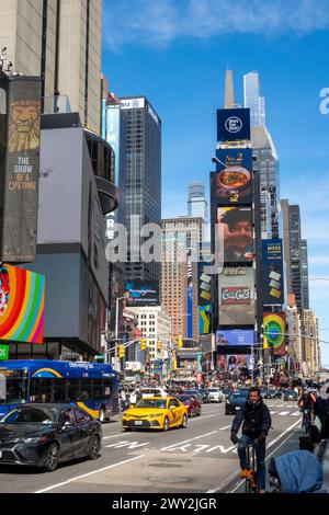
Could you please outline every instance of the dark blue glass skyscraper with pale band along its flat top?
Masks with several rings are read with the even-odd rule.
[[[160,279],[160,263],[140,260],[140,229],[161,224],[161,119],[145,96],[121,99],[126,127],[121,173],[125,182],[125,225],[128,231],[126,278]]]

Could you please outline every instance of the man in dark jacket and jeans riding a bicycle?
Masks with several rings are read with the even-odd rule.
[[[238,453],[241,466],[241,478],[248,478],[251,474],[250,468],[248,468],[247,464],[247,447],[248,445],[252,445],[257,442],[257,476],[260,493],[265,492],[265,442],[271,423],[272,420],[269,408],[264,404],[259,388],[250,388],[246,404],[240,409],[240,411],[238,411],[232,421],[230,439],[234,444],[239,444]],[[237,433],[241,424],[242,436],[239,439],[237,437]]]

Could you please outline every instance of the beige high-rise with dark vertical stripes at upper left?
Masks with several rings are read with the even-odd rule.
[[[42,76],[45,112],[67,95],[100,133],[102,0],[1,0],[0,46],[14,71]],[[58,102],[58,100],[57,100]]]

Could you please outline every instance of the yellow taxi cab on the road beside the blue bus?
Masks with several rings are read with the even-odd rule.
[[[123,413],[124,430],[147,428],[168,431],[170,427],[186,427],[188,410],[174,397],[141,399],[136,407]]]

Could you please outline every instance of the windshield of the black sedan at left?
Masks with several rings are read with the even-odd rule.
[[[36,407],[15,408],[0,420],[0,424],[43,424],[54,425],[58,420],[57,409]]]

